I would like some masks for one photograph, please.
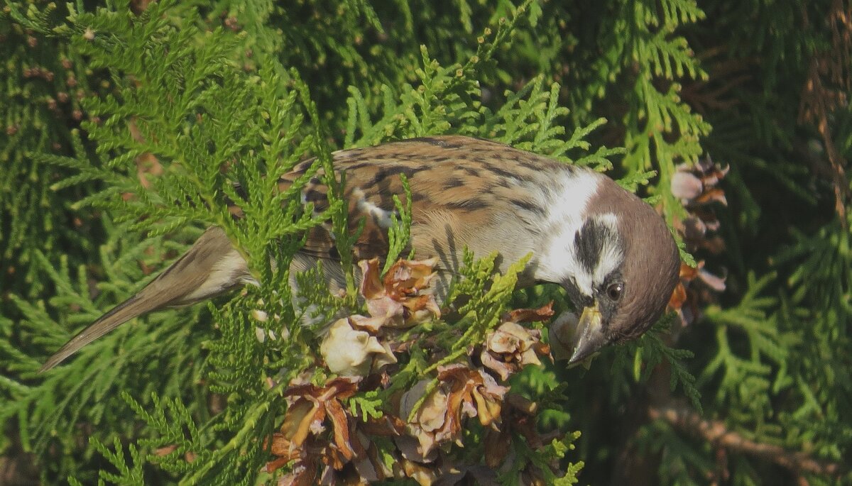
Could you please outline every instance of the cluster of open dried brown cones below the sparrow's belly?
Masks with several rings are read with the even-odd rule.
[[[541,332],[520,323],[551,317],[552,303],[508,312],[498,328],[487,334],[485,342],[470,350],[478,352],[484,368],[474,369],[469,363],[439,367],[434,388],[430,385],[435,380],[423,380],[401,395],[399,416],[386,414],[380,420],[364,422],[354,420],[343,400],[359,389],[387,387],[388,380],[382,379],[387,378],[387,373],[373,373],[396,362],[390,340],[397,329],[440,317],[440,311],[432,295],[422,294],[435,277],[434,260],[400,260],[384,277],[380,277],[378,260],[363,260],[359,265],[363,275],[360,293],[370,317],[350,316],[333,323],[320,352],[332,372],[369,377],[336,378],[325,386],[291,386],[285,392],[290,408],[271,443],[277,458],[268,463],[268,471],[292,462],[293,469],[282,477],[281,483],[297,485],[409,477],[426,486],[440,481],[452,483],[452,478],[465,476],[493,478],[490,462],[486,466],[457,464],[439,447],[452,442],[462,446],[464,421],[473,417],[489,427],[491,434],[499,432],[504,416],[516,422],[511,429],[515,433],[535,433],[534,406],[521,407],[527,410],[523,416],[504,413],[504,397],[509,388],[498,385],[490,373],[506,380],[529,363],[540,364],[540,356],[550,355],[550,347],[541,342]],[[406,423],[415,406],[417,412]],[[384,451],[397,458],[393,471],[378,459],[377,445],[371,437],[381,436],[393,437],[396,444],[395,450]],[[495,439],[494,443],[503,441]]]

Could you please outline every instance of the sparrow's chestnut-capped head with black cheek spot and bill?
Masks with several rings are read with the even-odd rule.
[[[647,331],[665,311],[680,267],[659,214],[612,180],[595,179],[579,218],[556,243],[565,254],[561,272],[550,279],[577,310],[567,326],[551,331],[569,364]]]

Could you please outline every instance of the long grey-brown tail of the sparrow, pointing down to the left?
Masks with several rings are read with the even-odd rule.
[[[138,294],[118,304],[69,340],[44,363],[41,371],[55,367],[133,317],[167,306],[189,306],[242,283],[254,283],[245,259],[233,248],[222,228],[211,226],[193,248]]]

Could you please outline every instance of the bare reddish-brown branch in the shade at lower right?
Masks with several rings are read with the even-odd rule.
[[[790,451],[743,437],[728,430],[728,426],[721,420],[702,419],[698,413],[686,407],[651,407],[648,409],[648,415],[652,420],[665,420],[676,429],[701,437],[716,446],[756,456],[793,472],[832,477],[841,476],[846,472],[846,467],[838,463],[817,460],[801,451]]]

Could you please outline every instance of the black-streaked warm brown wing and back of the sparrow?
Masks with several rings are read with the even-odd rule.
[[[473,229],[492,219],[494,192],[509,186],[506,170],[501,169],[499,157],[494,158],[495,152],[507,150],[516,152],[487,140],[451,136],[335,152],[335,169],[346,177],[343,198],[348,204],[349,231],[354,232],[360,220],[365,225],[354,243],[355,259],[381,259],[387,254],[393,197],[405,201],[400,174],[406,175],[412,190],[412,247],[417,256],[461,254],[464,245],[475,241]],[[314,159],[304,161],[282,175],[280,190],[288,189],[313,163]],[[302,201],[314,203],[318,212],[328,207],[322,174],[320,169],[302,190]],[[314,258],[339,260],[328,225],[314,227],[301,251]],[[451,270],[458,266],[445,263],[450,263]]]

